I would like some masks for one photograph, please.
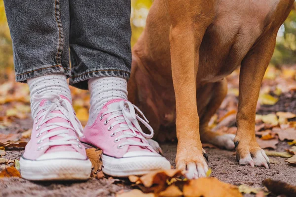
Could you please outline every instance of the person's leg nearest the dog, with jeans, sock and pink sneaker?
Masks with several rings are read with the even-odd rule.
[[[130,0],[70,0],[70,84],[90,90],[90,118],[81,141],[103,150],[103,172],[112,176],[170,169],[148,144],[153,130],[127,101],[131,69]],[[145,134],[138,120],[151,131]]]

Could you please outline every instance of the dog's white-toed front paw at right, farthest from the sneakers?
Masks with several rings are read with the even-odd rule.
[[[252,167],[264,166],[267,169],[270,168],[269,158],[256,141],[246,142],[237,139],[234,139],[234,141],[237,146],[236,160],[240,165],[251,165]]]

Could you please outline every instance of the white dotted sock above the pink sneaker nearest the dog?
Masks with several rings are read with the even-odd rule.
[[[98,77],[88,80],[90,108],[88,125],[92,125],[104,104],[112,99],[127,99],[127,82],[119,77]]]

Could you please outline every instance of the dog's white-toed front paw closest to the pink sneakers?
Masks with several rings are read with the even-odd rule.
[[[187,179],[206,177],[209,167],[205,159],[208,160],[208,156],[204,150],[201,154],[187,152],[184,155],[177,156],[176,168],[183,171]]]

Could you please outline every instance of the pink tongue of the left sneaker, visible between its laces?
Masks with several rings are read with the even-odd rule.
[[[43,100],[41,100],[39,106],[40,107],[42,107],[42,106],[50,107],[51,104],[52,104],[51,101],[43,99]],[[52,111],[51,113],[63,114],[59,110]],[[65,120],[63,118],[60,118],[60,117],[56,117],[56,118],[53,118],[53,119],[47,121],[46,123],[69,123],[69,121],[67,121],[67,120]],[[56,129],[49,130],[48,132],[59,131],[59,130],[68,130],[68,129],[64,128],[64,127],[58,127]],[[56,136],[50,137],[49,140],[57,140],[57,139],[61,139],[61,138],[63,138],[63,137],[56,135]],[[75,149],[71,145],[59,145],[59,146],[51,146],[51,147],[49,147],[47,149],[47,151],[45,151],[45,153],[52,153],[52,152],[60,151],[61,148],[63,149],[63,151],[76,152]]]

